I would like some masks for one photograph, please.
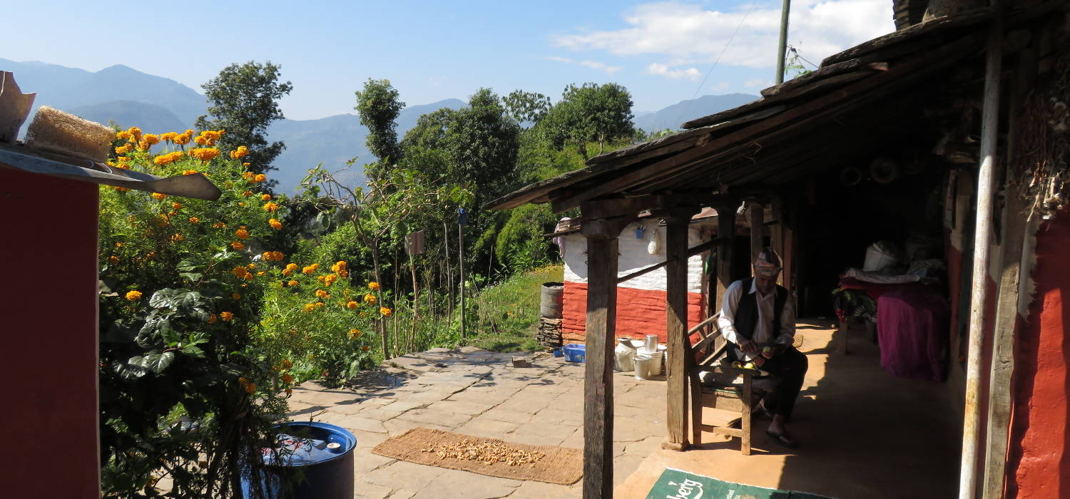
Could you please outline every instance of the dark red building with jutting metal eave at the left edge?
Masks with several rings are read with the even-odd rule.
[[[162,178],[15,141],[34,94],[0,72],[0,261],[7,384],[0,424],[17,442],[0,457],[4,497],[100,497],[97,189],[100,185],[215,200],[201,174]],[[100,125],[97,125],[100,126]],[[108,135],[113,134],[108,130]],[[110,144],[110,137],[104,144]],[[39,141],[40,142],[40,141]],[[16,450],[17,449],[17,450]]]

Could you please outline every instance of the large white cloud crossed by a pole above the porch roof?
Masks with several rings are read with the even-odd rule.
[[[553,36],[557,47],[605,50],[620,57],[654,54],[668,67],[709,64],[739,29],[720,63],[747,67],[776,66],[780,29],[776,6],[732,12],[707,11],[673,1],[647,3],[626,12],[628,28]],[[742,24],[742,25],[740,25]],[[789,41],[817,62],[844,48],[895,30],[888,0],[804,0],[792,5]],[[649,68],[648,68],[649,69]],[[667,68],[668,69],[668,68]]]

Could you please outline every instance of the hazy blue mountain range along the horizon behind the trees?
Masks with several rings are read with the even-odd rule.
[[[10,71],[24,92],[36,92],[34,109],[51,106],[90,121],[138,126],[147,132],[181,131],[192,128],[204,114],[204,95],[178,81],[141,73],[117,64],[88,72],[44,62],[0,59],[0,71]],[[681,123],[713,114],[756,99],[756,95],[704,95],[683,100],[653,112],[636,112],[633,122],[647,131],[675,129]],[[440,108],[460,109],[464,100],[448,98],[410,106],[397,119],[398,136],[416,125],[421,115]],[[29,122],[29,120],[27,120]],[[22,132],[25,134],[24,125]],[[365,146],[368,129],[356,114],[336,114],[319,120],[279,120],[268,129],[269,140],[281,140],[286,150],[275,159],[278,190],[290,193],[311,167],[323,163],[331,170],[374,161]],[[354,167],[348,175],[358,178]]]

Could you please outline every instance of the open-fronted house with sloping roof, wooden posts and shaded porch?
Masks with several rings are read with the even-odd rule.
[[[584,497],[613,495],[613,339],[633,327],[622,324],[627,303],[617,291],[633,272],[632,263],[622,263],[628,254],[622,248],[633,244],[627,231],[644,210],[664,222],[670,363],[663,448],[686,450],[705,430],[693,424],[705,395],[691,373],[708,358],[699,354],[709,352],[690,345],[718,344],[716,332],[703,338],[703,327],[689,327],[699,307],[689,297],[697,286],[688,256],[701,249],[689,228],[702,207],[713,206],[719,233],[732,233],[740,204],[748,207],[750,252],[769,244],[783,255],[783,284],[795,292],[800,316],[831,316],[831,292],[846,281],[844,270],[862,266],[871,244],[935,240],[930,256],[946,265],[943,284],[895,289],[898,305],[877,299],[880,356],[883,362],[886,353],[903,353],[892,352],[907,346],[895,334],[920,334],[933,346],[928,361],[938,377],[910,383],[943,384],[950,403],[927,408],[932,423],[892,417],[890,424],[935,424],[945,412],[959,421],[943,435],[961,442],[961,453],[958,446],[952,450],[961,454],[959,477],[946,473],[939,488],[929,490],[932,497],[954,489],[968,499],[1070,497],[1070,306],[1061,297],[1070,292],[1070,259],[1061,255],[1070,243],[1064,208],[1070,159],[1067,3],[968,10],[962,3],[932,0],[927,10],[897,1],[899,31],[830,56],[814,73],[765,89],[756,102],[592,158],[582,170],[492,203],[499,209],[550,203],[555,212],[579,207],[582,214]],[[746,276],[740,269],[749,255],[732,237],[712,240],[716,303],[733,280]],[[578,265],[578,259],[569,262]],[[889,310],[896,314],[882,314]],[[700,316],[712,312],[706,308]],[[841,347],[846,330],[834,337]],[[826,375],[842,365],[843,354],[828,355]],[[862,414],[846,407],[826,424],[849,426]],[[749,446],[748,420],[743,424],[733,435]],[[868,452],[859,453],[856,443],[869,441],[862,435],[825,447],[852,450],[836,462],[840,467],[893,453],[868,443]],[[913,445],[926,449],[930,442]],[[906,463],[897,466],[883,470],[890,477],[885,494],[896,487],[905,494],[917,471]],[[851,480],[838,472],[825,490],[811,492],[836,495],[843,490],[836,484]]]

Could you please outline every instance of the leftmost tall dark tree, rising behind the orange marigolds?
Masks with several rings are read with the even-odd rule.
[[[226,130],[219,140],[223,149],[248,146],[247,162],[255,173],[275,170],[271,163],[286,149],[282,142],[269,144],[264,136],[271,122],[285,118],[278,99],[293,90],[289,81],[279,82],[279,69],[271,61],[234,63],[201,85],[212,105],[208,115],[197,119],[197,127]]]

